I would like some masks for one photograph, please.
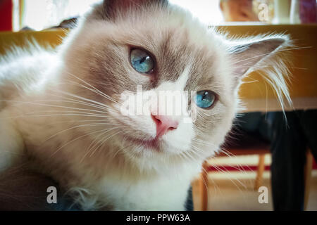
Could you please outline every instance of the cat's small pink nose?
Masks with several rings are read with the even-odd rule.
[[[178,128],[178,122],[167,115],[152,115],[152,118],[156,123],[156,138]]]

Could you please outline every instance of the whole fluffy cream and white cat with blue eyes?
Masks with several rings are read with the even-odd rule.
[[[269,65],[288,97],[285,64],[272,58],[287,46],[285,35],[226,39],[167,1],[105,0],[56,51],[1,58],[1,170],[27,159],[82,210],[184,210],[190,181],[232,127],[243,75]],[[123,113],[133,108],[123,94],[140,87],[187,91],[183,113],[161,113],[161,101]]]

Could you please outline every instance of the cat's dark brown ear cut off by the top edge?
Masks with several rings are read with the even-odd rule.
[[[131,10],[137,10],[153,4],[163,6],[166,0],[104,0],[104,12],[107,19],[114,19],[118,15],[125,15]]]

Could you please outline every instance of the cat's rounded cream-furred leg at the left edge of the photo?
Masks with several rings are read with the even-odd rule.
[[[0,172],[18,162],[23,149],[23,139],[8,119],[8,113],[0,112]]]

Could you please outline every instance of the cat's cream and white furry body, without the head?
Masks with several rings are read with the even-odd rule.
[[[33,59],[37,58],[37,56],[31,57]],[[105,155],[102,160],[100,160],[100,155],[98,155],[98,158],[87,156],[85,160],[87,165],[77,163],[85,157],[85,152],[82,151],[80,154],[80,150],[85,150],[94,141],[90,137],[77,139],[67,145],[67,151],[76,153],[76,155],[68,155],[63,151],[55,153],[58,148],[82,135],[74,129],[63,132],[63,135],[58,136],[58,139],[53,139],[54,141],[43,141],[60,131],[77,125],[75,122],[58,123],[70,120],[69,116],[46,117],[44,113],[40,113],[45,110],[46,106],[43,105],[51,97],[45,95],[46,85],[51,83],[50,81],[42,83],[42,79],[45,79],[44,77],[55,79],[56,74],[49,75],[46,71],[51,68],[51,62],[57,61],[57,59],[56,53],[51,53],[49,57],[39,55],[36,63],[32,64],[34,68],[30,68],[28,65],[24,67],[15,62],[8,65],[12,69],[19,68],[20,71],[17,73],[21,77],[30,78],[28,81],[19,78],[11,79],[14,82],[13,84],[25,87],[39,85],[40,89],[32,89],[31,94],[28,94],[27,91],[13,89],[9,98],[2,98],[3,103],[6,103],[6,101],[12,102],[10,102],[9,107],[4,105],[0,113],[1,118],[6,118],[6,120],[1,120],[1,150],[3,152],[5,150],[10,151],[6,154],[7,158],[1,158],[1,160],[4,160],[1,161],[1,166],[12,165],[13,161],[18,159],[15,157],[16,155],[25,154],[36,158],[37,162],[34,163],[40,168],[39,171],[43,172],[42,169],[44,169],[44,173],[53,176],[61,186],[66,184],[68,186],[69,179],[73,178],[72,186],[78,188],[78,191],[85,193],[85,189],[87,189],[89,193],[92,193],[89,194],[92,198],[92,207],[87,207],[87,210],[94,209],[97,199],[103,201],[111,210],[182,210],[190,181],[200,169],[197,163],[185,167],[175,167],[174,171],[161,171],[159,174],[150,171],[147,174],[139,174],[137,170],[133,169],[133,165],[126,165],[127,162],[120,162],[120,160],[116,161],[116,158],[112,158],[111,155]],[[38,69],[38,65],[44,68],[45,72],[40,74],[42,76],[34,73],[34,70]],[[4,74],[6,77],[8,75]],[[38,82],[41,84],[38,84]],[[10,83],[4,83],[3,85],[8,87]],[[69,105],[65,106],[69,107]],[[49,110],[58,110],[58,108],[50,107]],[[39,112],[42,116],[33,116],[32,112]],[[72,118],[72,120],[75,120],[75,118]],[[54,122],[57,123],[54,124]],[[8,143],[8,146],[4,146],[4,143]],[[104,145],[104,148],[113,148],[113,146]],[[13,155],[12,150],[15,151]],[[43,151],[45,151],[45,156]],[[54,156],[50,157],[53,154]],[[44,158],[42,158],[43,156]],[[8,162],[9,158],[12,159],[11,162]],[[43,165],[45,166],[43,167]],[[82,181],[85,181],[85,185],[81,184]],[[93,186],[90,184],[93,184]],[[82,190],[80,190],[81,188]]]

